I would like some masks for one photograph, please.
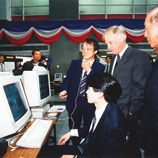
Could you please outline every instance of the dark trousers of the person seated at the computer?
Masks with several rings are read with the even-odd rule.
[[[45,146],[38,154],[38,158],[60,158],[62,155],[79,155],[81,154],[77,146],[74,145],[55,145]]]

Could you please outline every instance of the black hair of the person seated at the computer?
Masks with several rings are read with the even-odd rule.
[[[87,85],[92,87],[95,92],[103,92],[107,102],[117,103],[122,88],[118,81],[109,73],[94,73],[87,79]]]

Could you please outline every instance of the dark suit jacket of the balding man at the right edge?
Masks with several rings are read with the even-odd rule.
[[[158,152],[158,60],[148,78],[139,146],[144,150]]]

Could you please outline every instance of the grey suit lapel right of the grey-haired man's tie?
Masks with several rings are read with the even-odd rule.
[[[126,49],[126,51],[124,52],[121,60],[119,61],[119,63],[117,64],[117,67],[115,68],[114,72],[113,72],[113,76],[116,77],[117,74],[120,72],[122,66],[128,61],[128,56],[130,55],[132,47],[128,47]]]

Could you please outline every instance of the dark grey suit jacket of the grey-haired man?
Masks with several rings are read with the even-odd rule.
[[[115,56],[111,59],[110,70]],[[122,94],[117,101],[117,105],[125,115],[137,117],[142,111],[145,98],[146,81],[151,71],[151,63],[146,53],[128,47],[119,61],[113,76],[118,80],[122,87]]]

